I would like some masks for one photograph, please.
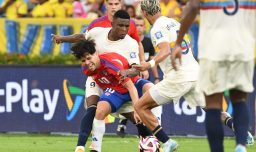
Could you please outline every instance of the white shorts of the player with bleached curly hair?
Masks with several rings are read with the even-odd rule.
[[[204,95],[196,86],[196,81],[173,83],[173,80],[166,78],[150,88],[149,93],[158,105],[177,103],[183,96],[189,106],[205,107]]]

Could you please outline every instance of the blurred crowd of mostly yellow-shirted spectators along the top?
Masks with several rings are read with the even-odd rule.
[[[177,20],[187,0],[160,0],[162,14]],[[139,0],[123,0],[132,18],[140,16]],[[106,14],[104,0],[0,0],[0,16],[8,19],[21,17],[91,18]]]

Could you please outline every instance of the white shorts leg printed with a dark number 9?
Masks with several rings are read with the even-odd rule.
[[[100,97],[103,94],[103,90],[97,85],[92,77],[87,77],[85,87],[85,98],[88,98],[92,95]]]

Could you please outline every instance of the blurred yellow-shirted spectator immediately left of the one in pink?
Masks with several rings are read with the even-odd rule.
[[[73,6],[71,2],[65,0],[58,0],[53,6],[54,17],[67,18],[73,15]]]

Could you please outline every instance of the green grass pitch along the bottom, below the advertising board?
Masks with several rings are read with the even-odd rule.
[[[179,152],[209,151],[205,138],[176,137],[174,139],[180,144]],[[76,141],[77,136],[73,135],[0,134],[0,152],[73,152]],[[226,138],[225,152],[233,152],[234,144],[233,138]],[[137,145],[138,138],[134,136],[126,138],[105,136],[102,151],[138,152]],[[256,152],[256,146],[248,147],[248,152]]]

